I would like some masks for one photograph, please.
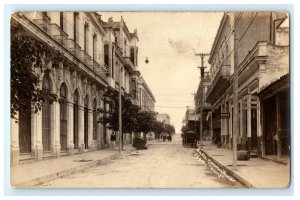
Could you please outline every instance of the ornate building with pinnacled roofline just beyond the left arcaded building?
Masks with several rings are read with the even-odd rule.
[[[109,66],[108,84],[110,87],[119,91],[121,82],[122,94],[131,97],[133,103],[138,101],[137,82],[132,80],[139,79],[138,71],[138,35],[135,29],[130,33],[128,27],[121,17],[120,21],[114,21],[112,17],[108,22],[101,20],[101,24],[106,31],[104,37],[104,62]],[[131,134],[123,133],[124,143],[132,141]],[[117,139],[118,141],[118,139]]]

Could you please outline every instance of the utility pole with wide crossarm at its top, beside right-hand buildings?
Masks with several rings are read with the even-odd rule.
[[[200,115],[199,115],[199,137],[200,137],[200,149],[202,149],[202,142],[203,142],[203,102],[204,102],[204,94],[203,94],[203,79],[204,79],[204,56],[209,56],[208,53],[196,53],[196,56],[201,57],[201,67],[198,67],[200,69],[200,89],[201,89],[201,95],[200,95]]]

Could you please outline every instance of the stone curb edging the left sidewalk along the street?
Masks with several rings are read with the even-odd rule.
[[[135,150],[132,149],[132,150],[128,150],[128,151],[125,151],[125,152],[126,152],[126,154],[128,154],[128,153],[131,153],[133,151],[135,151]],[[62,170],[62,171],[59,171],[59,172],[56,172],[56,173],[52,173],[52,174],[48,174],[48,175],[41,176],[41,177],[38,177],[38,178],[34,178],[32,180],[25,181],[23,183],[18,183],[16,185],[14,185],[14,187],[15,188],[29,188],[29,187],[32,187],[32,186],[41,185],[41,184],[47,183],[49,181],[53,181],[53,180],[58,179],[58,178],[62,178],[64,176],[69,176],[71,174],[78,173],[80,171],[83,171],[85,169],[88,169],[88,168],[91,168],[91,167],[94,167],[94,166],[107,164],[108,161],[119,158],[121,156],[124,156],[124,154],[113,154],[113,155],[101,158],[99,160],[94,160],[94,161],[91,161],[89,163],[79,165],[77,167],[65,169],[65,170]]]

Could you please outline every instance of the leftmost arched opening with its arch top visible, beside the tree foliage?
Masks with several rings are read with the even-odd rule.
[[[50,77],[45,75],[43,79],[43,90],[51,91]],[[51,105],[49,99],[45,99],[42,108],[42,143],[43,150],[51,149]]]

